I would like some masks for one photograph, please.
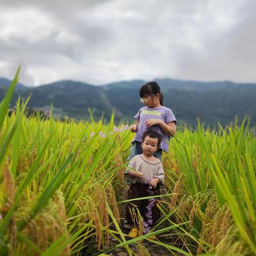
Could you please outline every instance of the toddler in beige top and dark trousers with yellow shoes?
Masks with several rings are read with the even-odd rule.
[[[127,199],[160,195],[159,183],[164,184],[164,170],[162,162],[154,156],[162,141],[161,135],[154,131],[147,131],[142,136],[142,154],[134,156],[130,161],[125,175],[131,178],[131,186]],[[133,226],[128,237],[136,238],[139,234],[138,211],[143,218],[144,233],[148,233],[161,217],[157,200],[154,198],[138,199],[127,203],[127,224]],[[134,207],[135,205],[135,207]],[[150,236],[150,239],[156,239]]]

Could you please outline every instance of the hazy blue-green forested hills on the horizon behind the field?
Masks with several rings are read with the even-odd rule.
[[[5,95],[5,78],[0,78],[0,98]],[[256,84],[233,82],[199,82],[175,79],[155,79],[164,94],[164,106],[172,109],[178,123],[196,126],[197,118],[205,125],[217,126],[234,123],[235,116],[242,121],[251,117],[256,126]],[[10,81],[7,81],[10,83]],[[69,117],[89,118],[88,108],[98,119],[104,113],[108,119],[115,111],[116,121],[132,121],[138,109],[140,86],[146,81],[134,80],[94,86],[75,81],[59,81],[38,87],[19,85],[15,90],[12,105],[18,95],[27,98],[31,94],[29,107],[49,107],[51,103]]]

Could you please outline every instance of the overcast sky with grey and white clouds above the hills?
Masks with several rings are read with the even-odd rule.
[[[0,77],[256,82],[255,0],[0,0]]]

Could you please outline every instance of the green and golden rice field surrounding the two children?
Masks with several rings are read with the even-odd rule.
[[[179,130],[163,155],[163,219],[128,239],[123,173],[134,134],[114,116],[108,124],[28,118],[26,102],[9,117],[16,83],[17,75],[0,105],[0,255],[151,255],[143,241],[152,234],[159,255],[256,255],[256,143],[247,121]]]

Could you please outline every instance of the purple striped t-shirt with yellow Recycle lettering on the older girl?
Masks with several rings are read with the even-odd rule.
[[[134,116],[139,121],[138,124],[138,130],[136,132],[136,135],[133,139],[133,141],[142,141],[142,135],[148,131],[155,131],[162,135],[162,141],[159,145],[159,148],[164,150],[165,152],[168,152],[169,150],[169,141],[170,141],[170,135],[165,133],[159,125],[153,125],[151,127],[147,127],[145,124],[148,119],[156,118],[163,120],[166,124],[170,123],[172,121],[176,122],[176,118],[172,113],[172,110],[170,108],[166,107],[159,107],[159,108],[148,108],[148,107],[142,107],[138,113]]]

